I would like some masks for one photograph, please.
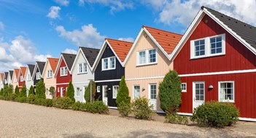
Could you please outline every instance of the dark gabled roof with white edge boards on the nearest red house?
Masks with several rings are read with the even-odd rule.
[[[187,39],[193,33],[204,15],[211,17],[212,20],[224,28],[225,31],[240,41],[241,44],[244,44],[244,46],[246,46],[252,53],[256,54],[256,28],[254,26],[236,20],[233,17],[229,17],[208,7],[201,7],[198,15],[195,16],[193,22],[190,24],[189,28],[187,28],[185,35],[182,37],[181,41],[179,41],[174,52],[170,54],[171,60],[174,60],[177,56],[182,49],[182,46],[187,42]]]

